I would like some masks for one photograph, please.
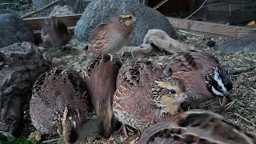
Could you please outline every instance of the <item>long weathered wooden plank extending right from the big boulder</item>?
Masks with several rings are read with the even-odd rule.
[[[242,37],[247,34],[255,34],[256,30],[242,26],[227,26],[211,22],[199,22],[184,20],[181,18],[166,17],[174,28],[181,30],[198,31],[207,34],[218,34],[230,37]]]

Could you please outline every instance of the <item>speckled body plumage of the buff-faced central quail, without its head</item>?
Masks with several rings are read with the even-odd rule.
[[[177,79],[167,78],[158,63],[137,61],[122,66],[113,99],[114,115],[122,124],[144,130],[166,116],[157,108],[162,94],[156,80],[182,87]],[[179,106],[173,109],[178,112]]]

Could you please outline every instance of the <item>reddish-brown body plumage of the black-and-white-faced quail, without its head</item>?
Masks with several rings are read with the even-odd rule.
[[[214,55],[199,50],[188,50],[174,54],[172,58],[164,60],[163,64],[173,70],[173,77],[185,82],[191,102],[205,102],[214,98],[214,94],[207,90],[205,82],[205,74],[214,69],[214,66],[221,66]]]

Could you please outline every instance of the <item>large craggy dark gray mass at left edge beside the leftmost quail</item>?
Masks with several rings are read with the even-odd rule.
[[[50,62],[30,42],[0,49],[0,131],[14,133],[34,82],[49,67]]]

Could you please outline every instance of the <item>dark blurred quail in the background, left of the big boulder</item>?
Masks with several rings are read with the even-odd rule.
[[[44,46],[51,45],[59,48],[70,42],[71,36],[62,21],[56,17],[50,17],[46,18],[42,24],[41,38]]]

